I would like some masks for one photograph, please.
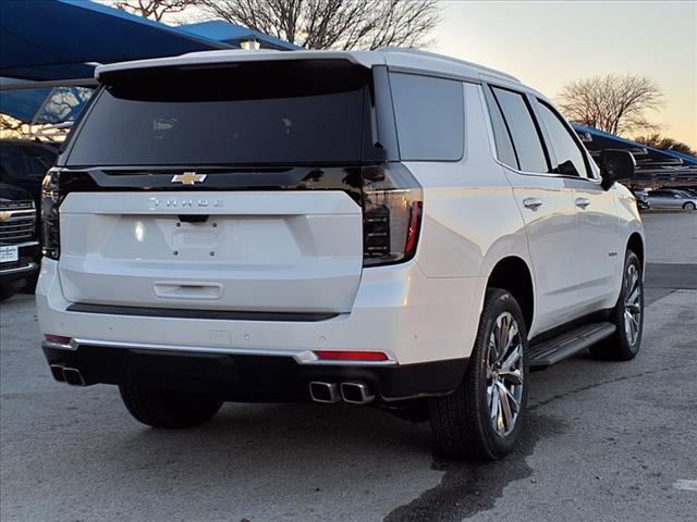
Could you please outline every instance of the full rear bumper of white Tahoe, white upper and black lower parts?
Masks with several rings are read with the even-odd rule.
[[[169,381],[160,363],[168,368],[179,366],[170,362],[176,358],[213,360],[213,368],[204,364],[199,376],[206,381],[234,369],[218,378],[242,383],[227,390],[231,400],[271,400],[260,387],[285,390],[271,394],[272,400],[306,399],[308,378],[362,378],[374,383],[386,400],[450,391],[470,355],[486,286],[479,277],[427,278],[409,262],[364,270],[351,313],[326,320],[168,316],[166,309],[158,309],[163,316],[146,316],[69,310],[74,303],[62,295],[57,268],[50,259],[41,265],[36,289],[40,331],[82,340],[72,351],[46,348],[49,362],[84,365],[88,382],[117,384],[137,375],[164,384]],[[389,360],[330,363],[317,360],[318,350],[381,351]],[[133,362],[145,352],[160,362],[145,370]],[[243,388],[255,393],[240,395]]]

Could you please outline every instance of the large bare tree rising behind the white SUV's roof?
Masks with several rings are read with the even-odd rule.
[[[206,14],[306,49],[427,45],[438,0],[198,0]]]

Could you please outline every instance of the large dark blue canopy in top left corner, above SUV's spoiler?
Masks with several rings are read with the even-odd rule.
[[[89,78],[94,65],[231,46],[85,0],[0,0],[0,76]]]

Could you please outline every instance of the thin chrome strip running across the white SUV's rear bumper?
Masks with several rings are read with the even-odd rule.
[[[73,338],[70,346],[57,345],[54,343],[45,341],[46,346],[51,345],[54,348],[76,350],[81,345],[103,346],[108,348],[136,348],[146,350],[169,350],[169,351],[194,351],[197,353],[224,353],[231,356],[269,356],[269,357],[292,357],[298,364],[316,364],[316,365],[365,365],[365,366],[386,366],[396,364],[396,361],[321,361],[311,350],[282,350],[278,348],[221,348],[213,346],[187,346],[187,345],[169,345],[154,343],[131,343],[117,340],[98,340]]]

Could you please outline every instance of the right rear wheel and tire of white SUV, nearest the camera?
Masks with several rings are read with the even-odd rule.
[[[452,394],[429,400],[440,452],[497,460],[513,450],[527,403],[527,347],[515,298],[502,289],[487,290],[462,383]]]

